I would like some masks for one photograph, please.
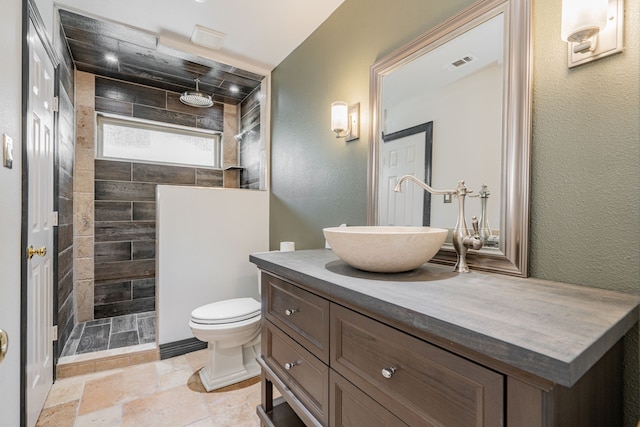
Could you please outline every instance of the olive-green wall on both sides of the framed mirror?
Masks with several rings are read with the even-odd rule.
[[[273,72],[271,248],[366,223],[369,67],[471,0],[346,0]],[[534,1],[530,275],[640,294],[640,7],[625,52],[569,70],[561,0]],[[360,102],[361,138],[329,130]],[[597,315],[597,313],[594,313]],[[625,425],[640,419],[638,328],[625,340]]]

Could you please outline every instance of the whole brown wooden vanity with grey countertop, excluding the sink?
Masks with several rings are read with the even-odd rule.
[[[263,426],[622,423],[636,296],[432,264],[367,273],[327,249],[251,261]]]

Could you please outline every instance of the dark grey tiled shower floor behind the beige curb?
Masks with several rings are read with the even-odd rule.
[[[92,320],[78,323],[73,328],[61,357],[153,343],[155,340],[155,311]]]

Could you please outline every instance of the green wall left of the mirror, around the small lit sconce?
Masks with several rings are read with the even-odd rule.
[[[322,228],[367,219],[369,67],[471,0],[347,0],[273,72],[270,246],[324,246]],[[330,106],[360,103],[360,139],[330,130]]]

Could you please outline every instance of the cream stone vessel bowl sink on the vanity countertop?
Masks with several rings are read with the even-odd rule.
[[[443,228],[396,226],[330,227],[322,231],[344,262],[375,273],[420,267],[438,253],[448,233]]]

